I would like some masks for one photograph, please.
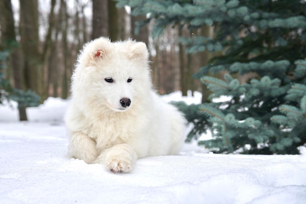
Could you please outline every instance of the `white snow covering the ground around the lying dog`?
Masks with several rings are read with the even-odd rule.
[[[200,102],[179,92],[165,101]],[[67,102],[49,98],[18,122],[0,106],[0,204],[304,204],[306,155],[218,155],[195,143],[148,157],[128,174],[66,156]]]

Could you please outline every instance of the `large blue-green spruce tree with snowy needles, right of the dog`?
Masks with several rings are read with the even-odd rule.
[[[306,1],[303,0],[119,0],[132,15],[148,14],[152,36],[165,27],[214,27],[214,37],[180,38],[187,52],[222,52],[195,78],[223,102],[177,105],[194,129],[213,139],[198,143],[217,153],[298,154],[306,143]],[[208,75],[224,74],[223,79]],[[252,73],[248,82],[238,76]]]

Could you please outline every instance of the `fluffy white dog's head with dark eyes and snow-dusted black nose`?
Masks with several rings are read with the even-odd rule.
[[[148,57],[143,42],[90,41],[78,57],[72,94],[87,97],[92,105],[126,111],[151,88]]]

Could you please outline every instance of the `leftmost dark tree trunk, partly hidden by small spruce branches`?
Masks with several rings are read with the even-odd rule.
[[[16,41],[13,10],[10,0],[0,0],[1,44],[10,50],[10,62],[13,69],[14,88],[23,89],[21,50]],[[27,121],[25,107],[19,108],[19,120]]]

